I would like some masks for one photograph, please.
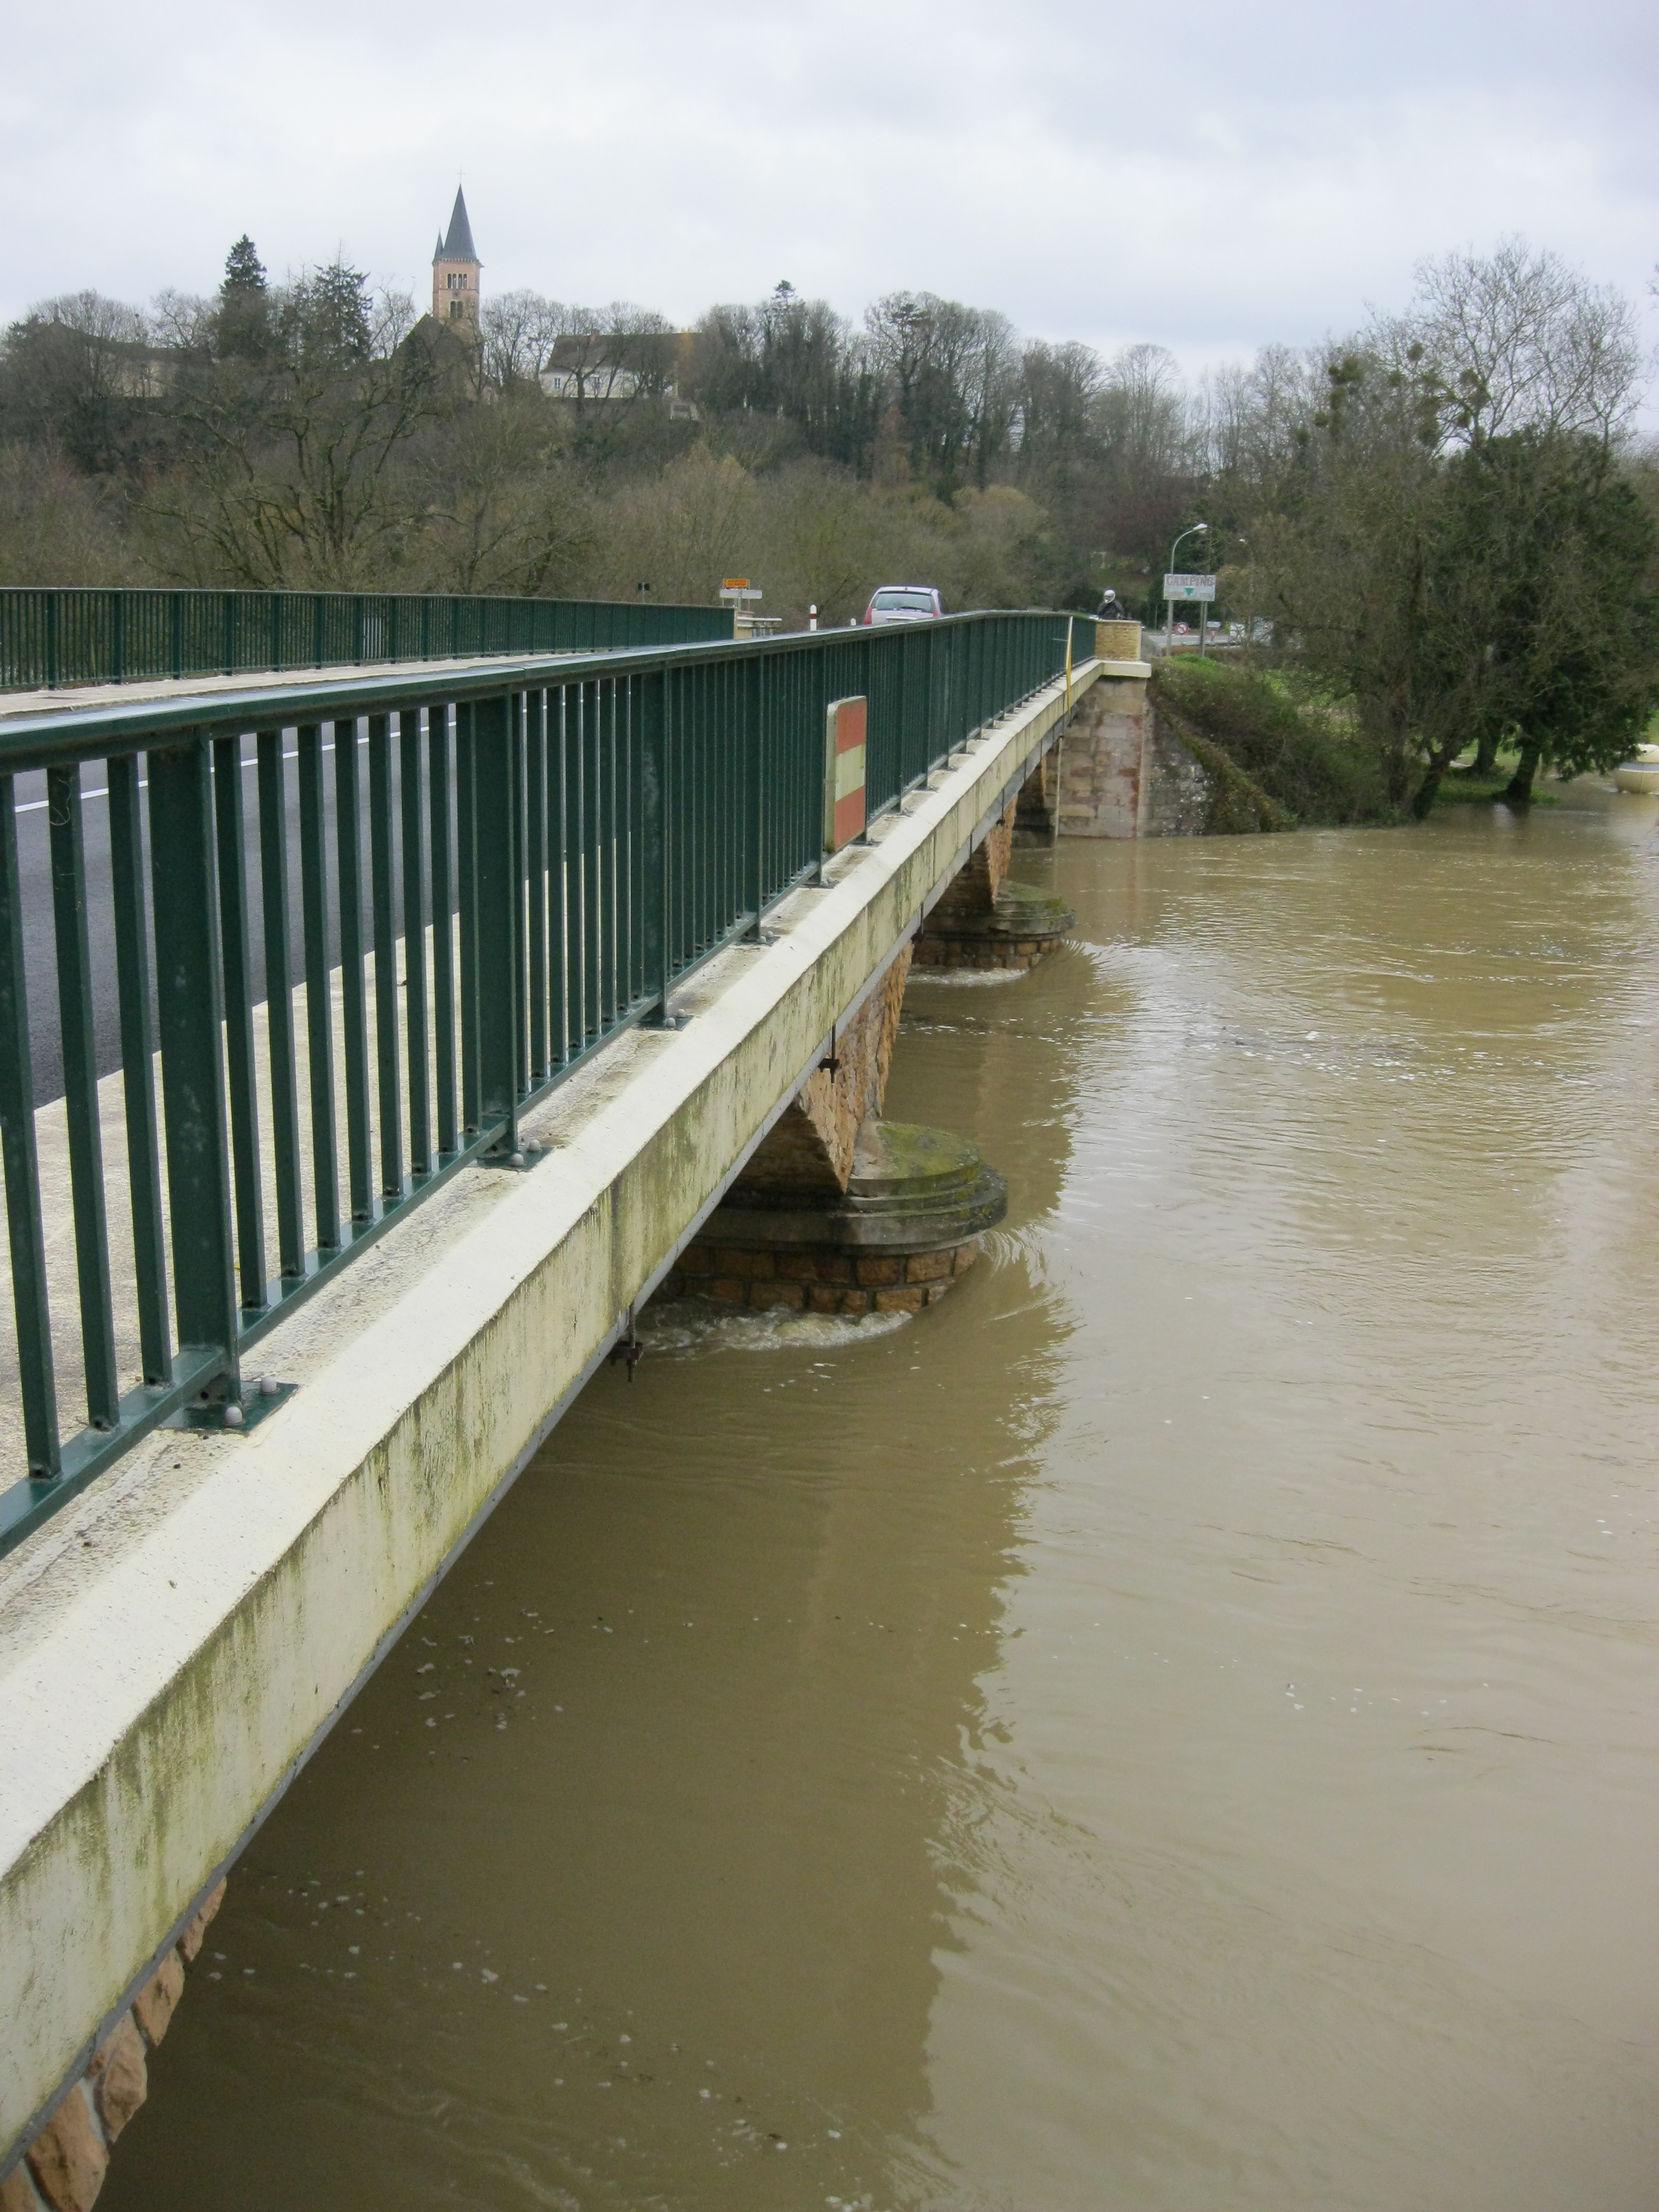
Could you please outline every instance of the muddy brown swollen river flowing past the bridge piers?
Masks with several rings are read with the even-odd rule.
[[[593,1383],[108,2212],[1659,2205],[1659,814],[1022,872],[989,1259]]]

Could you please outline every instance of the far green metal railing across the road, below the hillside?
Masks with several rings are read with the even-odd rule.
[[[730,608],[354,591],[0,588],[0,690],[478,653],[617,653],[732,635]]]

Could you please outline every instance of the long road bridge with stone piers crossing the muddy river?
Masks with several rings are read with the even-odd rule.
[[[909,964],[1040,958],[1011,838],[1152,787],[1137,626],[1051,613],[148,672],[0,703],[0,2166],[53,2205],[653,1294],[949,1292],[1002,1183],[880,1117]]]

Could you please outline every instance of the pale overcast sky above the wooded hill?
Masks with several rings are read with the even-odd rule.
[[[341,250],[429,296],[465,175],[484,288],[675,321],[787,276],[1183,363],[1400,305],[1504,232],[1641,305],[1652,0],[4,0],[0,314]]]

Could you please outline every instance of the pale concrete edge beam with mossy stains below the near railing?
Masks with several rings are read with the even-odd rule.
[[[1091,686],[1144,664],[1088,661]],[[246,1436],[157,1431],[0,1562],[0,2143],[119,2020],[409,1613],[765,1139],[1068,714],[973,739],[524,1115],[261,1356]]]

